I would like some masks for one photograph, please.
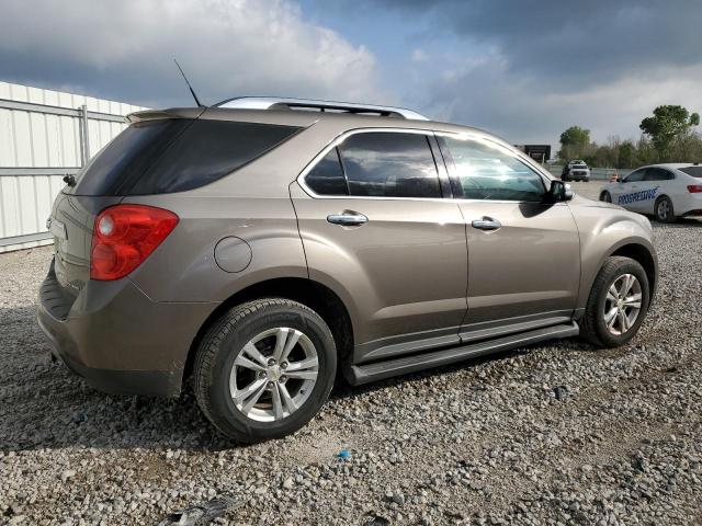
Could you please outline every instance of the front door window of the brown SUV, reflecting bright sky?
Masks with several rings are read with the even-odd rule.
[[[546,191],[541,175],[517,157],[488,144],[454,137],[439,137],[451,171],[456,197],[466,199],[543,199]]]

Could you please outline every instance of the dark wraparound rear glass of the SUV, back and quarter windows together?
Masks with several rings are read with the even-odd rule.
[[[77,178],[77,195],[147,195],[196,188],[271,150],[298,127],[229,121],[137,123]]]

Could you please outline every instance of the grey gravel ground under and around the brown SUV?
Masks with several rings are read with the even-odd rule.
[[[655,230],[659,293],[625,347],[342,385],[248,447],[191,392],[111,397],[52,363],[34,320],[50,250],[0,255],[0,523],[155,524],[230,495],[246,503],[218,524],[702,524],[702,222]]]

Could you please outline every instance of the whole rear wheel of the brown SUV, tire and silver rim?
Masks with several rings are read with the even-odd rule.
[[[291,343],[287,339],[293,335],[287,357],[286,346],[281,345],[279,363],[271,364],[276,343]],[[308,365],[313,356],[316,365]],[[290,369],[287,377],[286,364],[303,363],[307,365]],[[290,435],[309,422],[329,397],[336,370],[337,351],[325,321],[296,301],[263,298],[228,310],[207,330],[195,359],[194,390],[202,412],[217,430],[251,444]],[[303,374],[305,378],[292,378]],[[246,397],[249,388],[253,395]],[[235,401],[231,389],[244,398]]]

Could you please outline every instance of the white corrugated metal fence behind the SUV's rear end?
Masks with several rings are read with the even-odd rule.
[[[0,82],[0,252],[50,243],[46,218],[76,173],[144,110]]]

